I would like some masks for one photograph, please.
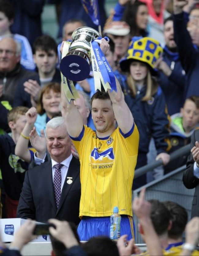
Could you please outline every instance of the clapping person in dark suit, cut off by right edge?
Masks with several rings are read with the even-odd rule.
[[[195,188],[191,218],[199,217],[199,130],[191,136],[191,153],[187,159],[186,171],[183,174],[183,183],[186,188]]]

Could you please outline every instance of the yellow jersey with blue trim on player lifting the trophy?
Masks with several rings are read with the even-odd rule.
[[[71,137],[80,156],[80,217],[105,217],[118,206],[119,214],[132,216],[132,184],[137,163],[137,126],[123,134],[116,128],[111,136],[98,138],[84,126]]]

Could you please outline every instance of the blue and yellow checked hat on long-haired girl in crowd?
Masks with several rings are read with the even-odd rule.
[[[151,68],[153,75],[156,74],[155,62],[159,59],[163,49],[160,43],[151,37],[133,37],[127,52],[127,57],[120,61],[122,71],[129,69],[133,60],[145,62]]]

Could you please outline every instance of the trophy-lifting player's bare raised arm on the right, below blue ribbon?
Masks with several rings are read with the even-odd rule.
[[[128,133],[133,127],[133,115],[124,100],[124,94],[122,93],[119,81],[115,77],[117,92],[108,89],[109,96],[113,104],[113,111],[115,119],[118,123],[119,128],[124,134]]]

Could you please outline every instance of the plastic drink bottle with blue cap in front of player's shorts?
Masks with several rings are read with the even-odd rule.
[[[113,208],[113,214],[110,217],[111,226],[110,226],[110,238],[112,240],[118,240],[120,237],[120,222],[121,216],[118,213],[118,207]]]

